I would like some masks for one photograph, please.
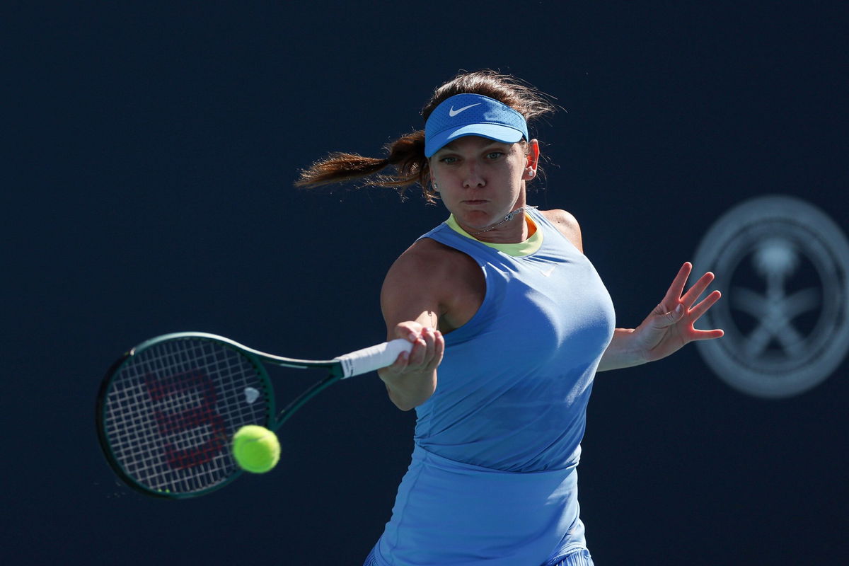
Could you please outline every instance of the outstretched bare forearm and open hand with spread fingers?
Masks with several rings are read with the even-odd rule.
[[[613,339],[599,362],[599,372],[632,367],[656,361],[680,350],[694,340],[710,340],[722,336],[722,330],[696,330],[694,322],[719,300],[719,291],[696,300],[713,281],[713,273],[705,273],[684,293],[692,264],[684,263],[672,281],[661,303],[637,328],[616,328]]]

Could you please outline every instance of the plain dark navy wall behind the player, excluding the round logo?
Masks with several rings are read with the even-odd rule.
[[[306,406],[272,474],[189,502],[116,482],[94,397],[159,333],[317,358],[383,339],[385,271],[445,211],[291,183],[422,126],[458,70],[564,107],[539,128],[531,203],[581,221],[620,326],[744,199],[798,195],[846,227],[842,3],[606,4],[9,3],[3,561],[361,563],[412,447],[374,375]],[[313,377],[274,375],[280,397]],[[845,376],[758,400],[692,346],[599,374],[581,465],[596,563],[846,561]]]

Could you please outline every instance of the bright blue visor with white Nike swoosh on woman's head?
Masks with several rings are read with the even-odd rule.
[[[497,142],[530,141],[525,117],[507,104],[481,94],[457,94],[434,109],[424,124],[424,157],[458,137],[481,136]]]

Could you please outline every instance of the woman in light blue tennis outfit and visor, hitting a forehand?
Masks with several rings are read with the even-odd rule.
[[[419,182],[448,220],[391,266],[381,291],[388,338],[409,354],[378,373],[391,401],[416,409],[413,461],[366,566],[592,564],[576,467],[597,371],[668,356],[722,336],[693,323],[713,279],[684,293],[685,263],[638,328],[614,328],[610,295],[565,210],[527,204],[539,144],[527,120],[554,108],[492,71],[465,73],[424,106],[424,132],[383,160],[334,154],[302,173],[318,185],[395,174]]]

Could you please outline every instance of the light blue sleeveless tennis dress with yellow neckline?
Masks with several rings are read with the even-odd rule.
[[[445,336],[436,392],[416,408],[413,459],[366,564],[540,566],[586,548],[576,467],[610,294],[536,210],[520,244],[449,218],[433,238],[477,261],[480,309]]]

